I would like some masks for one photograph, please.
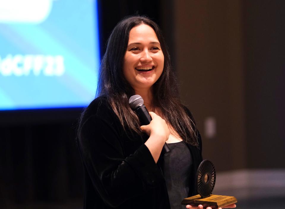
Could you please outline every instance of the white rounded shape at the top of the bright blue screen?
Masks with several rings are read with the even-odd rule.
[[[0,0],[0,23],[42,23],[53,0]]]

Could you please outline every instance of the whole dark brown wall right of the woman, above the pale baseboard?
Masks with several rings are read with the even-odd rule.
[[[285,167],[284,3],[174,2],[175,67],[204,158],[218,171]]]

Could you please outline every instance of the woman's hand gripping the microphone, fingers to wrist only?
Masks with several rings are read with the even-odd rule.
[[[150,124],[141,126],[141,130],[149,136],[156,136],[156,138],[163,140],[163,142],[167,141],[170,131],[165,120],[154,112],[149,112],[149,114],[152,120]]]

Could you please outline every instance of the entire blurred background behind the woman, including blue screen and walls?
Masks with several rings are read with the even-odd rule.
[[[285,1],[0,1],[0,208],[83,208],[75,145],[100,57],[126,15],[160,25],[238,208],[285,205]]]

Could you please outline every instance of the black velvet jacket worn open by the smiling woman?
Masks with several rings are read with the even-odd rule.
[[[90,103],[78,132],[85,209],[170,209],[161,169],[163,157],[157,164],[154,162],[144,144],[147,139],[147,135],[124,131],[106,98],[99,97]],[[200,134],[198,142],[199,148],[187,144],[193,159],[189,197],[197,194],[194,176],[202,161]]]

